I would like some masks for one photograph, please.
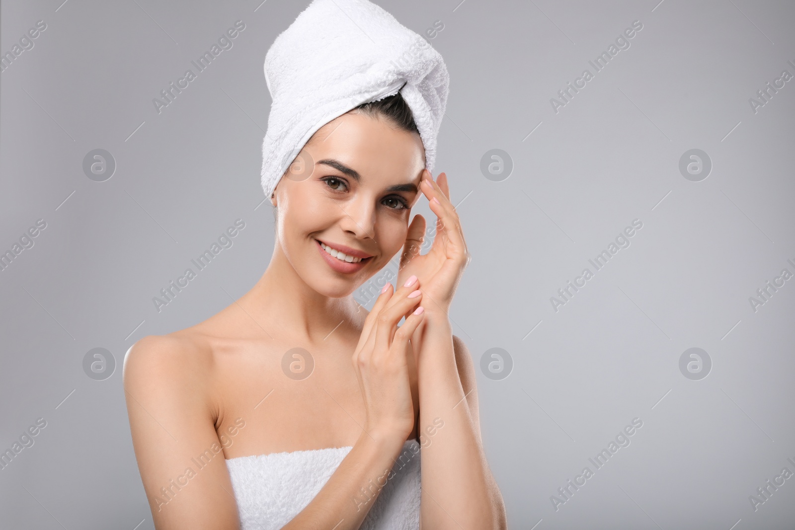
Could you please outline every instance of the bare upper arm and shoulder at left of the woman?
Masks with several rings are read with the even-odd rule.
[[[158,530],[240,528],[209,399],[211,366],[207,352],[152,335],[124,360],[133,447]]]

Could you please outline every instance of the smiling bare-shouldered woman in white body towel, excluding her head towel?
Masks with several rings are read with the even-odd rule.
[[[414,114],[397,91],[316,128],[264,185],[276,238],[257,284],[128,352],[156,528],[506,528],[471,356],[448,320],[469,256]],[[276,122],[272,110],[269,134]],[[409,223],[421,195],[438,218],[425,255],[425,219]],[[368,313],[351,293],[401,250],[397,290]]]

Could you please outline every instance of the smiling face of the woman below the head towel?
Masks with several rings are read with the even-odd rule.
[[[420,135],[383,118],[343,114],[320,128],[271,199],[281,250],[304,282],[341,298],[382,269],[405,243],[424,168]]]

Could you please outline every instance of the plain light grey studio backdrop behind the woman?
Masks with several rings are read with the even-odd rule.
[[[0,75],[0,449],[47,427],[4,470],[5,528],[153,528],[121,362],[144,335],[191,326],[262,275],[273,216],[259,186],[265,53],[308,2],[2,2],[0,52],[47,29]],[[510,528],[795,528],[793,2],[378,2],[425,33],[451,75],[436,171],[473,259],[452,308],[478,374],[483,443]],[[246,29],[172,104],[152,100],[235,21]],[[633,21],[643,28],[557,113],[550,99]],[[531,133],[532,132],[532,133]],[[110,180],[83,173],[107,149]],[[509,153],[506,180],[480,161]],[[702,149],[712,172],[686,180]],[[417,209],[428,213],[425,204]],[[246,228],[158,312],[161,288],[235,219]],[[642,229],[559,311],[550,297],[633,219]],[[360,299],[362,294],[357,295]],[[117,367],[95,381],[88,350]],[[712,371],[684,377],[700,347]],[[65,400],[64,400],[65,399]],[[588,462],[638,417],[607,464]],[[594,476],[559,509],[550,497]],[[138,527],[136,527],[138,525]],[[536,525],[536,526],[533,526]]]

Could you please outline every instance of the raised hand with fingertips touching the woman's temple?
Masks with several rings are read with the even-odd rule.
[[[463,240],[463,230],[450,202],[450,188],[447,175],[440,173],[433,181],[430,172],[423,171],[420,189],[429,199],[431,211],[436,214],[436,236],[431,250],[421,255],[420,250],[425,237],[425,218],[415,215],[401,253],[400,269],[397,273],[397,286],[415,275],[420,279],[425,311],[429,317],[442,314],[446,318],[452,297],[465,269],[471,260],[467,243]]]

